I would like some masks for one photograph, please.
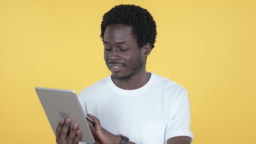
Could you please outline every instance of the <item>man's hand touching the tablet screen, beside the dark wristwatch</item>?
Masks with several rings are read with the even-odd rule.
[[[87,118],[91,132],[93,133],[93,137],[95,139],[95,144],[120,144],[120,136],[114,135],[102,128],[99,119],[93,115],[88,114],[88,117],[93,120],[92,121]]]

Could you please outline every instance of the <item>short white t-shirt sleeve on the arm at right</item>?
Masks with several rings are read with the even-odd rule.
[[[189,136],[191,141],[193,139],[193,133],[190,131],[190,106],[187,91],[183,88],[179,97],[176,99],[173,107],[175,109],[173,113],[168,115],[168,125],[166,131],[166,141],[175,136]],[[171,110],[170,110],[171,111]]]

